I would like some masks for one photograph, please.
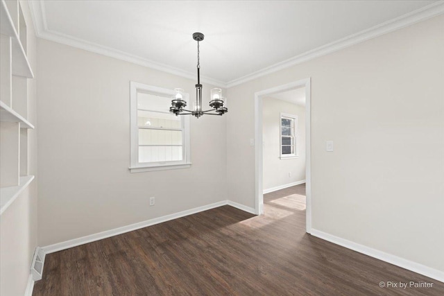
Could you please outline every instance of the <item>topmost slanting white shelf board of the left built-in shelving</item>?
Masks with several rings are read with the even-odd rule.
[[[20,42],[19,34],[15,30],[12,18],[6,8],[5,0],[0,4],[0,33],[12,37],[12,75],[34,78],[31,65]]]

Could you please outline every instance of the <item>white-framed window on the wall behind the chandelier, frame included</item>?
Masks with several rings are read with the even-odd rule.
[[[189,116],[169,112],[173,95],[172,89],[130,82],[132,173],[191,165]]]

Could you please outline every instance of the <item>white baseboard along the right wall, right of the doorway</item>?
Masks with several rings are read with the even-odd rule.
[[[359,243],[354,243],[352,241],[346,240],[345,238],[340,238],[332,234],[327,234],[317,229],[311,229],[311,235],[316,236],[318,238],[322,238],[325,241],[330,241],[330,243],[341,245],[343,247],[346,247],[350,250],[354,250],[361,254],[366,254],[370,257],[385,261],[387,263],[391,263],[393,265],[405,268],[407,270],[411,270],[413,272],[419,273],[420,275],[425,275],[426,277],[430,277],[432,279],[436,279],[437,281],[444,282],[444,272],[441,270],[436,270],[426,265],[422,265],[420,263],[416,263],[392,254],[388,254],[386,252],[373,249],[372,247],[360,245]]]

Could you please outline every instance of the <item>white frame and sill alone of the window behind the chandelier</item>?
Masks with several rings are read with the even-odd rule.
[[[139,82],[130,82],[130,135],[131,135],[131,173],[141,173],[149,171],[175,170],[178,168],[189,168],[191,166],[190,158],[190,139],[189,139],[189,116],[181,116],[184,132],[182,134],[183,141],[183,159],[180,161],[169,162],[139,162],[139,127],[137,126],[137,93],[145,92],[158,96],[165,96],[165,100],[171,103],[171,97],[175,92],[173,89],[164,89],[152,85],[145,85]],[[189,95],[184,94],[184,100],[189,102]],[[169,104],[165,104],[168,106]],[[165,111],[167,111],[166,109]]]

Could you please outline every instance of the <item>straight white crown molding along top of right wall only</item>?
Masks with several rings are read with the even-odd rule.
[[[231,80],[226,83],[226,87],[230,88],[236,85],[241,85],[242,83],[248,82],[250,80],[254,80],[256,78],[266,76],[270,73],[292,67],[296,64],[301,64],[302,62],[313,60],[314,58],[319,58],[329,53],[334,53],[335,51],[345,49],[346,47],[373,39],[386,33],[391,33],[412,24],[416,24],[420,21],[425,21],[426,19],[429,19],[431,17],[436,17],[437,15],[441,15],[443,13],[444,1],[432,3],[428,6],[424,6],[418,10],[413,10],[412,12],[401,15],[400,17],[396,17],[395,19],[385,21],[384,23],[378,24],[364,31],[349,35],[329,44],[320,46],[316,49],[312,49],[311,51],[306,51],[305,53],[296,55],[295,57],[289,58],[288,60],[273,64],[270,67],[266,67],[264,69],[260,69],[259,71],[250,73],[246,76]]]

